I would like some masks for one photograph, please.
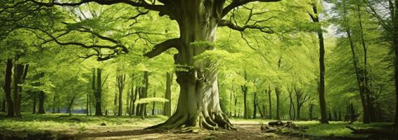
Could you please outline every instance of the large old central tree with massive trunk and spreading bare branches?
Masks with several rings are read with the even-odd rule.
[[[218,129],[218,126],[225,129],[233,128],[226,114],[222,112],[219,105],[219,92],[217,83],[217,66],[210,62],[196,62],[195,55],[200,55],[206,50],[214,50],[213,42],[216,39],[217,27],[229,27],[237,31],[245,29],[258,29],[264,33],[273,31],[264,26],[263,22],[246,22],[246,25],[237,25],[231,19],[226,18],[231,11],[240,6],[251,2],[274,2],[280,0],[82,0],[82,1],[34,1],[26,0],[15,3],[34,3],[38,6],[80,6],[84,3],[98,3],[100,5],[113,5],[117,3],[127,4],[131,8],[145,8],[157,11],[160,16],[167,15],[170,19],[176,20],[179,26],[179,37],[171,38],[155,45],[152,50],[146,52],[144,56],[151,58],[160,55],[169,48],[176,48],[179,52],[174,55],[175,64],[178,64],[184,71],[176,71],[176,81],[180,85],[179,101],[176,112],[165,123],[151,128],[175,128],[185,125],[186,131],[196,131],[198,128],[205,127],[210,130]],[[248,15],[252,18],[252,14]],[[228,20],[226,20],[228,19]],[[248,20],[249,21],[249,20]],[[84,48],[108,48],[115,50],[112,55],[100,54],[98,59],[108,59],[120,53],[127,53],[129,49],[119,40],[98,34],[84,27],[77,28],[77,31],[89,32],[105,41],[110,41],[115,45],[86,45],[78,42],[64,42],[58,40],[58,36],[53,36],[44,29],[37,29],[45,32],[58,45],[79,45]]]

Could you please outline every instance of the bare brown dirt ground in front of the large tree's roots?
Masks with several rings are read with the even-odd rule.
[[[261,132],[259,124],[235,123],[236,131],[202,131],[199,134],[178,134],[174,132],[157,132],[134,128],[131,130],[104,130],[75,134],[74,139],[301,139]],[[70,137],[69,137],[70,138]],[[67,138],[68,139],[68,138]]]

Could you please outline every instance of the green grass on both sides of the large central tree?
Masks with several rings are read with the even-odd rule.
[[[145,120],[139,117],[116,117],[116,116],[85,116],[85,114],[73,114],[71,117],[65,113],[47,113],[47,114],[31,114],[23,113],[23,119],[15,118],[4,118],[4,113],[0,113],[0,130],[6,129],[13,132],[29,132],[29,133],[43,133],[43,132],[55,132],[55,133],[71,133],[76,134],[80,132],[96,132],[103,130],[131,130],[131,129],[142,129],[158,123],[162,123],[167,120],[165,116],[148,116]],[[242,118],[231,119],[236,124],[268,124],[274,120],[263,120],[263,119],[248,119]],[[287,120],[284,120],[285,122]],[[101,126],[101,123],[105,123],[106,126]],[[300,134],[304,134],[311,137],[350,137],[359,138],[366,137],[366,135],[352,134],[352,131],[347,129],[346,126],[351,126],[356,129],[390,129],[392,123],[352,123],[346,122],[330,122],[330,124],[320,124],[318,121],[293,121],[296,125],[309,127],[309,129]],[[390,129],[391,130],[391,129]],[[281,133],[289,133],[289,130],[281,130]],[[1,133],[1,131],[0,131]]]

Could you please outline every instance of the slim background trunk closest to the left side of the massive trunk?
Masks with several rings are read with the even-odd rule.
[[[163,115],[168,117],[172,116],[172,81],[173,81],[173,73],[166,73],[165,98],[169,100],[169,102],[165,102]]]

